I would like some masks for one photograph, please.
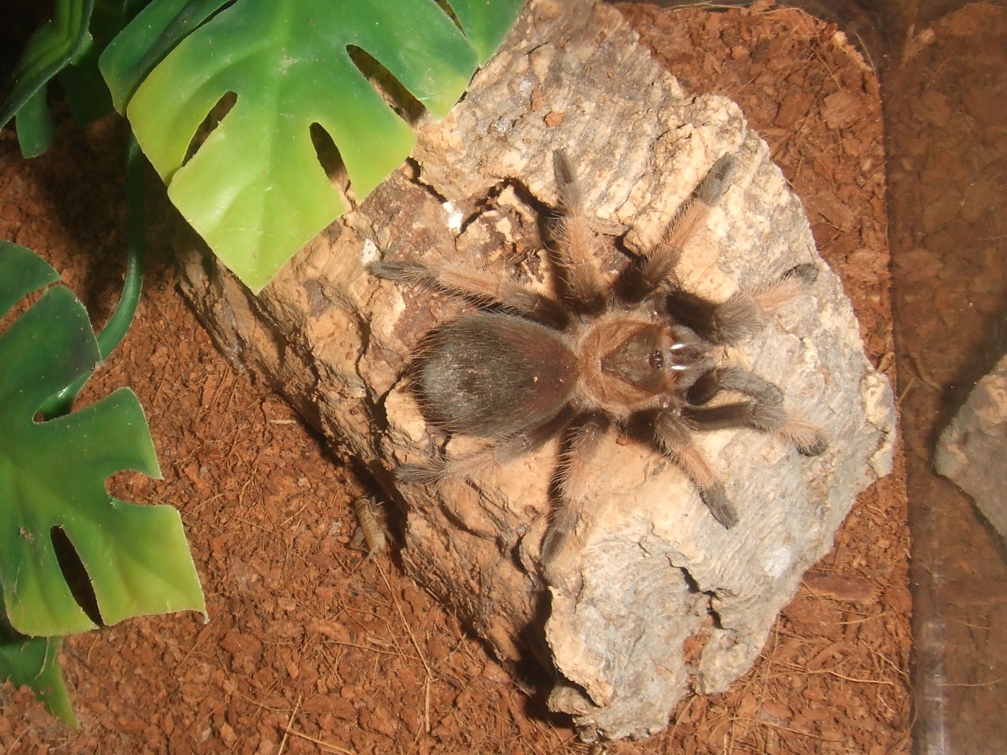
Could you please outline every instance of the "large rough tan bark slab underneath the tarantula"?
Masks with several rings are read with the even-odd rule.
[[[654,734],[687,684],[713,693],[743,673],[857,492],[890,470],[894,436],[888,384],[864,357],[850,304],[764,142],[733,103],[686,98],[634,37],[606,6],[533,0],[464,101],[419,124],[415,161],[259,297],[194,247],[180,250],[186,294],[222,349],[400,504],[402,560],[418,581],[500,657],[532,652],[556,668],[550,706],[572,714],[586,739]],[[699,437],[739,510],[726,531],[674,465],[613,436],[594,467],[583,547],[564,553],[546,585],[537,559],[555,444],[471,484],[395,482],[403,462],[445,443],[448,454],[470,447],[427,427],[403,382],[418,341],[464,306],[378,280],[367,265],[465,260],[550,290],[542,220],[556,201],[560,147],[577,162],[599,231],[624,235],[629,250],[653,244],[709,166],[736,153],[735,184],[680,272],[720,299],[818,263],[810,294],[724,358],[780,386],[830,448],[806,459],[752,431]],[[612,267],[626,259],[614,245],[608,254]],[[688,638],[705,646],[687,661]]]

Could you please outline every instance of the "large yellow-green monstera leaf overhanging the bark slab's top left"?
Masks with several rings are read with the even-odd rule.
[[[237,0],[223,10],[224,0],[154,0],[100,64],[172,202],[258,292],[344,209],[316,157],[312,125],[335,143],[357,199],[415,142],[349,48],[440,117],[524,0],[448,3],[457,24],[433,0]],[[234,107],[186,162],[196,130],[229,93]]]

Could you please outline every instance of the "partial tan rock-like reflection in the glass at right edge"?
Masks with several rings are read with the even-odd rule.
[[[934,466],[973,497],[1007,541],[1007,356],[983,378],[941,434]]]

